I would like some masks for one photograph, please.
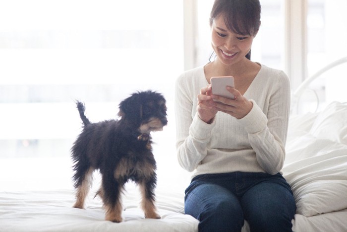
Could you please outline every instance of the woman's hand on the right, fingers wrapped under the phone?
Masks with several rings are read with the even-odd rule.
[[[212,98],[217,100],[215,108],[217,108],[218,111],[230,114],[232,117],[237,119],[243,118],[249,113],[249,111],[251,111],[253,103],[242,96],[242,94],[235,88],[228,86],[227,89],[235,96],[235,98],[229,99],[218,95],[212,95]]]

